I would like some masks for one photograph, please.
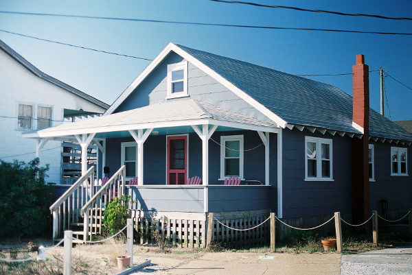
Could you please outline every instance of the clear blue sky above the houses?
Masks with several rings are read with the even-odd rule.
[[[254,1],[314,10],[412,17],[412,1]],[[3,1],[0,11],[126,19],[412,33],[412,21],[299,12],[209,0]],[[351,73],[357,54],[371,71],[382,67],[412,88],[412,36],[247,29],[0,13],[0,29],[82,47],[152,59],[173,42],[286,73]],[[133,82],[147,60],[114,56],[0,32],[0,39],[34,64],[107,104]],[[352,95],[352,76],[309,77]],[[371,72],[370,104],[380,109],[380,78]],[[412,119],[412,90],[385,77],[391,118]],[[287,95],[285,95],[287,96]],[[321,108],[321,106],[319,106]],[[385,116],[389,117],[385,102]]]

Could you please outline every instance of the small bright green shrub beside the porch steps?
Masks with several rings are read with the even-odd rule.
[[[130,195],[122,195],[120,198],[113,198],[111,202],[106,204],[103,224],[108,234],[114,235],[126,226],[127,219],[131,217],[128,204],[134,202]]]

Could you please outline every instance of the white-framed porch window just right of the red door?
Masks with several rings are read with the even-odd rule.
[[[243,135],[220,136],[220,179],[243,178]]]

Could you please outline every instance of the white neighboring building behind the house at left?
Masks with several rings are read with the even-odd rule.
[[[108,104],[39,71],[0,40],[0,159],[26,163],[36,157],[37,141],[21,134],[101,115]],[[37,153],[38,154],[38,153]],[[49,164],[47,182],[62,181],[62,142],[48,141],[40,152]]]

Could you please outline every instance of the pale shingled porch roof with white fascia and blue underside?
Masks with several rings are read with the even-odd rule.
[[[43,130],[25,132],[27,138],[69,139],[75,134],[91,134],[96,139],[130,136],[128,130],[155,128],[159,134],[194,132],[191,125],[219,125],[218,130],[260,130],[277,132],[275,123],[253,119],[194,99],[172,100],[84,121],[66,123]]]

